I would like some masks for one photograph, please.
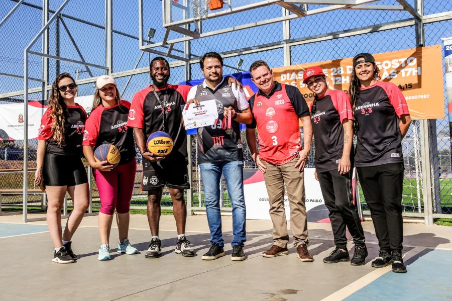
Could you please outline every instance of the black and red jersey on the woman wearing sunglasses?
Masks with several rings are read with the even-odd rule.
[[[59,146],[52,138],[53,118],[50,115],[50,108],[46,110],[41,119],[41,127],[39,128],[39,140],[47,140],[46,152],[55,155],[77,155],[81,156],[83,132],[85,130],[86,112],[78,104],[75,106],[67,106],[64,113],[65,130],[64,130],[64,146]]]

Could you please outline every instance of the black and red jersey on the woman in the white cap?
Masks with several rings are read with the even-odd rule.
[[[121,101],[112,107],[102,105],[91,111],[83,133],[83,145],[93,148],[101,144],[115,145],[121,153],[119,164],[126,164],[135,159],[133,129],[127,126],[130,103]]]

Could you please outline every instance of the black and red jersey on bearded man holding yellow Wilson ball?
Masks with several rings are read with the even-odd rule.
[[[173,139],[173,150],[168,158],[186,160],[188,158],[187,136],[182,124],[182,106],[186,102],[190,88],[191,86],[188,85],[168,84],[166,88],[156,89],[160,102],[155,97],[152,86],[135,93],[127,126],[143,129],[147,139],[152,133],[163,131],[165,122],[165,132]],[[166,106],[162,108],[165,94],[167,95]]]

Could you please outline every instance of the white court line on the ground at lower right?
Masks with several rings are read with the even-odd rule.
[[[408,259],[410,259],[414,255],[422,252],[423,250],[425,250],[425,248],[416,247],[416,248],[406,252],[403,255],[403,260],[407,261]],[[364,286],[372,283],[373,281],[377,280],[379,277],[383,276],[384,274],[386,274],[389,271],[392,271],[391,265],[387,265],[387,266],[382,267],[382,268],[375,268],[374,271],[364,275],[363,277],[361,277],[358,280],[350,283],[349,285],[344,286],[340,290],[337,290],[337,291],[333,292],[329,296],[323,298],[321,301],[344,300],[345,298],[347,298],[348,296],[350,296],[354,292],[356,292],[356,291],[360,290],[361,288],[363,288]]]

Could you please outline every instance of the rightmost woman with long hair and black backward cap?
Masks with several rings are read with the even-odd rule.
[[[380,81],[379,71],[370,53],[353,58],[349,92],[356,121],[355,166],[380,247],[372,266],[392,263],[393,272],[406,273],[402,259],[402,138],[411,118],[400,89]]]

